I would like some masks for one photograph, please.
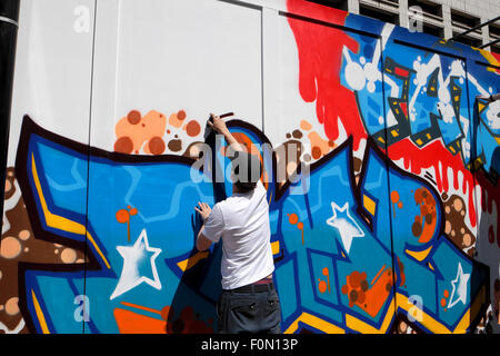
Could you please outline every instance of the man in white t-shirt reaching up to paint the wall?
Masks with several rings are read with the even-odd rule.
[[[221,238],[222,294],[217,306],[219,333],[280,333],[281,313],[272,283],[274,264],[270,245],[269,206],[260,181],[260,160],[247,154],[218,116],[209,126],[223,135],[236,159],[232,196],[194,209],[203,226],[197,248],[202,251]]]

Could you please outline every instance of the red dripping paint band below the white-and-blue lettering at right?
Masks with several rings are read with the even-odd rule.
[[[422,168],[433,167],[436,171],[436,184],[439,192],[448,191],[449,177],[448,168],[453,171],[453,187],[459,189],[458,174],[463,175],[462,192],[469,188],[469,219],[472,227],[476,226],[476,206],[474,206],[474,181],[472,174],[463,166],[460,155],[451,152],[442,146],[440,140],[436,140],[424,148],[418,148],[410,139],[403,139],[389,148],[389,158],[391,160],[403,159],[404,168],[408,170],[411,165],[411,172],[420,175]],[[441,162],[441,170],[439,169]]]

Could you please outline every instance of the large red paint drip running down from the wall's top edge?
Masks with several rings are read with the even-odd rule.
[[[303,0],[288,0],[288,11],[321,21],[344,24],[348,12]],[[299,51],[299,90],[307,102],[316,100],[316,113],[330,140],[339,137],[338,119],[354,150],[367,138],[354,92],[340,83],[342,49],[358,52],[359,44],[344,31],[304,20],[288,18]]]

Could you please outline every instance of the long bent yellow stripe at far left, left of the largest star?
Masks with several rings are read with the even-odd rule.
[[[87,231],[87,228],[83,225],[81,225],[80,222],[70,220],[68,218],[64,218],[62,216],[52,214],[49,210],[49,207],[48,207],[47,201],[46,201],[46,197],[43,196],[43,191],[42,191],[42,188],[41,188],[40,178],[38,176],[37,164],[34,161],[34,155],[33,154],[31,154],[31,170],[33,172],[33,181],[34,181],[34,186],[37,187],[37,192],[38,192],[38,196],[40,198],[40,204],[42,206],[43,216],[46,218],[47,226],[52,227],[52,228],[57,228],[59,230],[72,233],[72,234],[86,235],[87,239],[96,248],[96,251],[99,254],[99,256],[101,256],[101,258],[104,261],[104,264],[108,267],[108,269],[111,269],[111,266],[108,263],[108,260],[106,259],[104,254],[102,254],[102,251],[99,248],[98,244],[96,243],[93,237],[89,234],[89,231]]]

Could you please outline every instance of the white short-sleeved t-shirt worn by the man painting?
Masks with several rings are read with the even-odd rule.
[[[267,191],[259,180],[250,192],[237,192],[214,205],[203,235],[222,238],[222,288],[234,289],[260,280],[274,270]]]

